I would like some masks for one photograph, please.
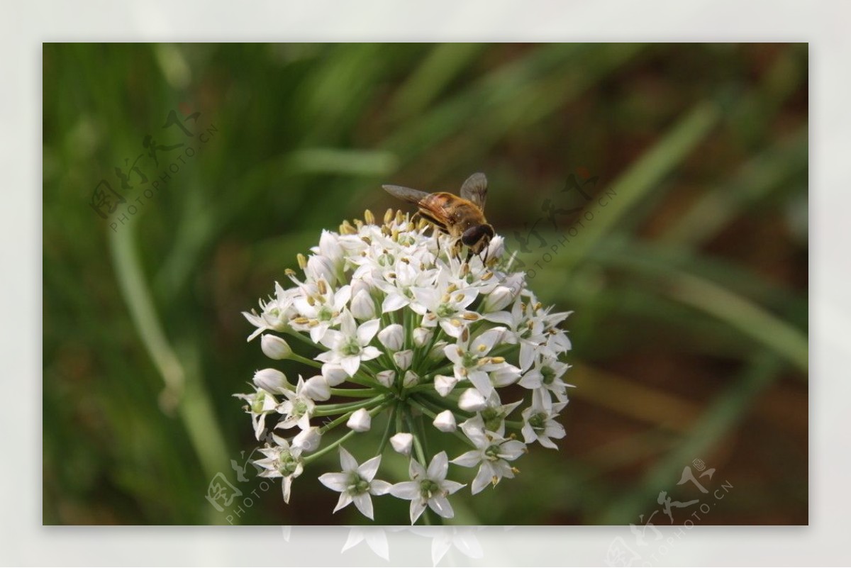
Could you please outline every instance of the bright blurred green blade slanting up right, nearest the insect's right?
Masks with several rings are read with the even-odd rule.
[[[676,169],[710,133],[720,116],[721,111],[717,104],[709,100],[700,102],[653,148],[620,175],[611,185],[611,190],[617,194],[616,198],[610,199],[607,207],[600,207],[595,212],[593,223],[582,227],[577,236],[571,238],[569,246],[565,247],[568,266],[585,257],[591,247],[613,230],[614,225],[629,213],[643,196],[648,196],[665,175]]]

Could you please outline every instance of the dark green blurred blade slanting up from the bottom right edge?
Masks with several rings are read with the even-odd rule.
[[[705,460],[722,437],[745,417],[751,402],[774,381],[779,369],[780,361],[775,355],[757,355],[741,377],[718,395],[709,410],[694,423],[689,434],[648,470],[641,483],[615,500],[593,522],[603,525],[640,522],[638,515],[647,514],[655,508],[659,492],[675,488],[683,468],[694,459]],[[720,471],[717,475],[723,477],[724,473]]]

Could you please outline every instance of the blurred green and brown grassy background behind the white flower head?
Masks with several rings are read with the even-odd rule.
[[[807,77],[806,44],[44,44],[43,522],[363,522],[331,514],[333,454],[289,506],[237,480],[255,442],[231,393],[268,366],[240,312],[321,229],[396,207],[382,183],[483,171],[508,247],[540,230],[519,258],[574,310],[578,388],[561,450],[458,493],[455,521],[642,524],[660,491],[702,498],[677,486],[701,459],[733,489],[699,524],[806,524]],[[594,215],[556,253],[553,204]],[[216,510],[218,473],[261,497]]]

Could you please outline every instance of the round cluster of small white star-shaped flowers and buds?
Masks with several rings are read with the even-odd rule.
[[[426,508],[451,518],[448,496],[464,485],[447,479],[449,463],[478,468],[476,494],[513,478],[528,445],[556,448],[553,440],[564,437],[557,417],[571,385],[560,357],[570,340],[558,326],[569,312],[551,313],[524,274],[508,270],[500,236],[487,262],[454,258],[452,244],[402,212],[388,210],[376,224],[367,211],[365,222],[323,231],[312,254],[299,255],[304,277],[287,270],[293,287],[276,284],[259,314],[243,313],[257,328],[248,340],[260,336],[264,354],[317,369],[295,383],[263,369],[254,392],[235,395],[247,402],[257,440],[266,440],[255,462],[260,475],[283,478],[284,501],[306,465],[339,448],[341,471],[319,476],[340,491],[335,511],[355,503],[372,519],[371,496],[389,493],[411,502],[412,524]],[[296,354],[288,340],[311,356]],[[519,400],[505,402],[505,393]],[[358,465],[343,444],[376,417],[386,419],[383,435],[374,457]],[[456,435],[470,451],[451,461],[444,451],[426,455],[434,446],[425,443],[427,421],[430,438]],[[337,427],[345,434],[323,446]],[[375,479],[388,443],[410,457],[410,480]]]

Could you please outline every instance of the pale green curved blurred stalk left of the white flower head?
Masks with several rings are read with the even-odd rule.
[[[108,238],[118,287],[130,318],[166,386],[161,401],[166,408],[177,407],[204,473],[212,479],[229,463],[224,437],[210,401],[203,395],[200,378],[186,372],[165,337],[134,246],[134,224],[109,232]]]

